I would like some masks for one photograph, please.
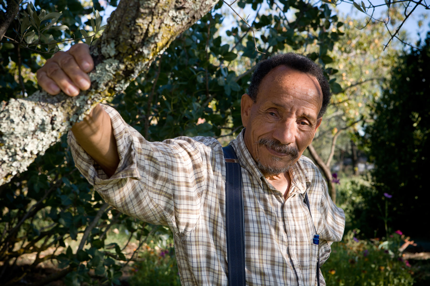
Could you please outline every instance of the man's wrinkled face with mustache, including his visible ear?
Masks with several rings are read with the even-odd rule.
[[[264,174],[285,173],[298,161],[321,124],[321,106],[318,81],[286,66],[264,77],[255,103],[243,94],[245,144]]]

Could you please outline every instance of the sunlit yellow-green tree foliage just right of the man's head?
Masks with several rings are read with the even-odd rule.
[[[390,18],[400,22],[404,16],[396,6],[390,8]],[[308,147],[309,156],[320,167],[330,182],[332,198],[335,198],[337,180],[332,177],[332,165],[338,163],[338,176],[343,172],[344,158],[351,158],[353,173],[357,168],[357,132],[372,124],[372,106],[386,87],[390,71],[396,63],[402,43],[394,40],[386,49],[384,43],[390,40],[385,25],[378,21],[345,18],[344,36],[335,43],[329,53],[333,62],[328,64],[338,72],[334,78],[339,83],[332,97],[324,124],[319,128],[313,143]],[[361,30],[356,27],[363,27]],[[399,37],[405,40],[404,33]],[[335,201],[335,199],[334,199]]]

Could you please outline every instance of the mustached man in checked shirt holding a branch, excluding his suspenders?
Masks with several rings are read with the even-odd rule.
[[[51,94],[76,96],[89,88],[92,67],[88,47],[75,45],[48,60],[37,79]],[[329,104],[329,83],[313,61],[289,53],[261,61],[248,90],[245,128],[230,142],[242,172],[246,285],[314,285],[318,253],[322,264],[344,231],[343,210],[302,156]],[[227,285],[225,163],[216,139],[148,142],[112,107],[98,105],[68,142],[107,203],[173,231],[182,285]]]

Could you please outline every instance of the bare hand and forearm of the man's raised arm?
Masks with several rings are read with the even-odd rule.
[[[76,44],[67,52],[57,52],[37,71],[39,85],[49,94],[60,89],[69,96],[77,96],[80,90],[87,90],[91,82],[89,73],[94,62],[86,44]],[[88,116],[75,123],[72,132],[80,146],[104,170],[112,176],[117,170],[120,157],[114,137],[111,118],[101,105],[95,106]]]

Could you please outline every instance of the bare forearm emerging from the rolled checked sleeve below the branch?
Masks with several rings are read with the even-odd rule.
[[[107,176],[117,170],[120,157],[114,137],[111,118],[101,105],[72,127],[72,132],[80,146],[100,165]]]

